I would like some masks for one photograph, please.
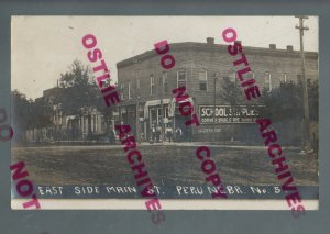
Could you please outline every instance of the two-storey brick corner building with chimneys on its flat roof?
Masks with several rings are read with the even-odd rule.
[[[248,76],[255,78],[265,91],[272,91],[280,82],[296,82],[301,76],[300,52],[295,51],[293,46],[278,49],[275,44],[271,44],[270,48],[249,47],[244,46],[244,43],[242,45],[252,69]],[[163,69],[161,56],[154,49],[117,64],[118,85],[121,89],[121,122],[131,124],[134,131],[139,122],[139,132],[142,138],[147,140],[151,127],[162,124],[163,100],[165,127],[179,126],[187,138],[191,136],[193,140],[208,141],[211,140],[212,132],[216,132],[219,133],[216,134],[217,140],[226,141],[229,140],[233,125],[240,126],[243,132],[249,132],[251,126],[255,130],[251,123],[257,118],[257,103],[254,108],[246,107],[246,103],[239,104],[235,109],[238,114],[234,115],[237,118],[233,120],[228,113],[232,107],[219,98],[222,78],[230,77],[235,80],[232,62],[237,58],[228,54],[227,45],[215,44],[215,40],[208,37],[207,43],[173,43],[169,47],[169,53],[176,60],[175,67],[169,70]],[[306,77],[311,80],[318,79],[318,53],[306,52],[305,56]],[[218,80],[216,82],[215,77]],[[185,120],[174,104],[172,90],[180,86],[186,86],[187,93],[193,98],[201,123],[198,127],[187,129],[183,124]],[[218,120],[213,125],[215,94]]]

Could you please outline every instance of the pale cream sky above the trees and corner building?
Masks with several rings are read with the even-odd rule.
[[[215,37],[216,44],[224,44],[227,27],[235,29],[243,46],[299,49],[298,23],[295,16],[12,16],[11,90],[35,99],[55,87],[75,59],[91,66],[81,44],[86,34],[97,37],[117,80],[118,62],[153,49],[156,42],[206,43]],[[318,52],[318,18],[309,16],[305,25],[305,49]]]

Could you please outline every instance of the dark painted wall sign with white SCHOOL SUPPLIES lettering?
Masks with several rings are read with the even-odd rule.
[[[260,110],[264,105],[216,105],[216,116],[213,105],[199,105],[200,124],[212,124],[213,119],[217,124],[221,123],[255,123]]]

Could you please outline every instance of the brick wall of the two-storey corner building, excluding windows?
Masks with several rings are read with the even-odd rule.
[[[243,52],[246,55],[251,70],[254,73],[254,78],[258,83],[261,91],[265,83],[265,73],[270,73],[272,77],[273,89],[278,87],[284,80],[286,74],[287,81],[297,81],[298,75],[301,73],[301,59],[299,51],[276,49],[276,48],[257,48],[245,47]],[[151,47],[153,45],[151,44]],[[176,66],[167,73],[168,91],[164,92],[165,98],[172,98],[172,89],[177,87],[177,70],[185,69],[187,73],[187,92],[195,100],[195,109],[198,112],[200,104],[213,104],[215,85],[212,75],[216,74],[219,81],[217,82],[217,92],[221,92],[221,79],[235,71],[232,62],[240,58],[231,56],[227,52],[226,45],[215,45],[212,41],[209,43],[174,43],[169,45],[169,54],[175,57]],[[306,76],[312,80],[318,79],[318,54],[315,52],[306,52]],[[161,56],[154,51],[148,51],[144,54],[128,58],[118,63],[119,85],[124,83],[125,100],[121,105],[132,105],[136,100],[136,79],[135,73],[140,77],[140,102],[143,103],[150,100],[158,100],[160,94],[160,77],[165,69],[161,66]],[[207,70],[207,91],[199,90],[198,73],[200,69]],[[155,77],[155,90],[150,94],[150,76]],[[252,74],[248,75],[252,76]],[[244,75],[245,77],[245,75]],[[129,82],[131,82],[131,100],[128,100]],[[239,81],[238,81],[239,85]],[[242,94],[243,93],[238,93]],[[217,98],[217,104],[227,104],[220,98]],[[230,124],[217,124],[218,133],[228,133]],[[237,124],[235,124],[237,125]],[[237,127],[250,130],[253,124],[240,124]],[[208,131],[212,125],[201,125],[194,129],[195,138],[205,137],[205,131]],[[205,130],[204,130],[205,129]],[[210,134],[209,134],[210,135]],[[219,134],[218,134],[219,135]],[[257,135],[257,134],[256,134]],[[219,136],[220,137],[220,136]],[[219,138],[220,140],[220,138]]]

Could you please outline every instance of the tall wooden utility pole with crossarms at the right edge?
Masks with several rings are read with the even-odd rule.
[[[296,29],[299,30],[300,34],[300,54],[301,54],[301,82],[302,82],[302,94],[304,94],[304,122],[305,122],[305,131],[304,131],[304,143],[302,147],[306,146],[306,152],[310,152],[311,149],[311,142],[310,142],[310,126],[309,126],[309,104],[308,104],[308,88],[307,88],[307,80],[305,74],[305,53],[304,53],[304,31],[309,30],[307,26],[304,26],[304,20],[308,19],[308,16],[296,16],[299,18],[299,26]]]

